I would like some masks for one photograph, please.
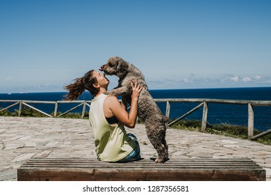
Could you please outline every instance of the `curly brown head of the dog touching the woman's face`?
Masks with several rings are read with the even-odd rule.
[[[125,77],[128,72],[129,65],[122,58],[113,56],[108,59],[107,63],[99,68],[106,75],[116,75],[119,78]]]

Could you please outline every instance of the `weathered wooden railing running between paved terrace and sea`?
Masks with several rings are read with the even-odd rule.
[[[207,114],[208,114],[208,104],[215,103],[215,104],[241,104],[241,105],[247,105],[248,107],[248,124],[247,124],[247,135],[249,139],[258,139],[260,137],[263,137],[267,134],[271,133],[271,130],[267,130],[263,132],[262,134],[258,134],[254,136],[254,107],[256,106],[264,106],[264,107],[270,107],[271,106],[271,101],[261,101],[261,100],[221,100],[221,99],[194,99],[194,98],[178,98],[178,99],[154,99],[156,102],[165,102],[166,103],[166,111],[165,115],[167,117],[170,117],[170,105],[172,102],[198,102],[199,104],[197,107],[191,109],[188,111],[186,114],[183,114],[176,120],[172,121],[171,123],[168,124],[168,126],[173,125],[174,123],[178,122],[182,118],[185,118],[189,114],[192,114],[194,111],[199,109],[200,107],[203,107],[203,113],[202,113],[202,131],[206,130],[206,125],[207,125]],[[31,109],[34,109],[36,111],[39,111],[40,113],[49,116],[49,117],[60,117],[63,116],[70,111],[73,111],[74,109],[83,106],[82,109],[82,116],[85,115],[85,109],[86,106],[90,107],[90,102],[91,101],[83,101],[83,100],[75,100],[75,101],[56,101],[56,102],[50,102],[50,101],[30,101],[30,100],[0,100],[0,102],[14,102],[14,104],[11,104],[10,106],[3,108],[0,110],[4,111],[6,109],[9,109],[10,107],[15,107],[17,104],[19,104],[19,111],[18,111],[18,116],[21,116],[22,114],[22,105],[26,107],[30,107]],[[67,103],[78,103],[76,107],[73,107],[72,109],[69,109],[68,111],[65,111],[63,114],[60,114],[57,116],[58,113],[58,104],[67,104]],[[54,109],[54,116],[51,116],[44,111],[41,111],[40,109],[36,109],[35,107],[32,107],[29,104],[55,104],[55,109]]]

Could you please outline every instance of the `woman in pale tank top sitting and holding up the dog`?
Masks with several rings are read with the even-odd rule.
[[[90,125],[95,137],[97,157],[106,162],[131,162],[140,159],[140,147],[133,134],[126,134],[124,125],[133,128],[138,114],[140,84],[131,81],[131,109],[126,112],[115,96],[105,95],[109,80],[104,74],[90,70],[84,77],[75,79],[74,84],[65,86],[69,91],[66,100],[75,100],[88,90],[95,98],[90,104]],[[123,100],[124,102],[124,100]]]

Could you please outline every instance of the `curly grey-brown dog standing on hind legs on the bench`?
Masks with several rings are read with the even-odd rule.
[[[125,96],[128,104],[131,104],[131,80],[143,86],[138,98],[138,117],[145,122],[147,137],[158,153],[155,159],[157,163],[168,160],[168,148],[165,141],[166,123],[168,118],[163,116],[156,102],[151,97],[145,77],[133,64],[127,63],[122,58],[113,56],[108,62],[99,68],[106,75],[117,75],[118,86],[109,92],[110,95]]]

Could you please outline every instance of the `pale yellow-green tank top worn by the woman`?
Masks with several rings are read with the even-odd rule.
[[[97,158],[117,162],[135,148],[136,143],[127,136],[122,123],[110,125],[104,116],[104,100],[108,95],[98,95],[90,104],[90,125],[95,137]]]

